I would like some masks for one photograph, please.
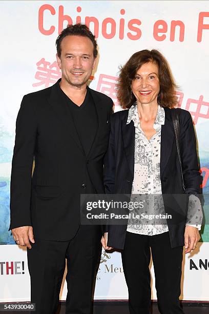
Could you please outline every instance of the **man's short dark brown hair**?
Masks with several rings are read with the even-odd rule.
[[[68,25],[62,32],[59,34],[56,40],[56,48],[57,48],[57,54],[58,57],[61,55],[61,41],[66,36],[83,36],[83,37],[89,37],[92,44],[94,45],[94,51],[93,55],[94,58],[96,58],[98,51],[97,51],[97,42],[95,40],[95,36],[90,31],[89,27],[85,24],[74,24],[74,25]]]

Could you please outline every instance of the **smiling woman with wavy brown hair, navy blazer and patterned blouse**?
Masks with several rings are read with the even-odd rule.
[[[190,113],[173,108],[176,87],[168,62],[157,50],[134,53],[120,69],[118,100],[128,110],[111,119],[106,192],[131,198],[161,194],[163,202],[155,214],[172,215],[172,221],[162,224],[129,219],[128,224],[109,225],[102,238],[105,249],[122,249],[131,314],[150,312],[151,251],[160,313],[183,313],[179,305],[183,246],[189,253],[200,239],[202,210],[197,194],[202,179],[196,138]],[[178,207],[175,195],[182,194],[188,197]],[[170,195],[169,202],[165,195]]]

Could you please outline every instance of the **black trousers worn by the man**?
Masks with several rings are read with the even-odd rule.
[[[28,249],[31,303],[36,314],[54,314],[67,259],[67,314],[90,314],[92,291],[101,255],[101,226],[81,225],[71,241],[35,239]],[[34,313],[34,312],[31,312]]]

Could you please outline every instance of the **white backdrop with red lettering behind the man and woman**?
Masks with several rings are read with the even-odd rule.
[[[179,107],[189,110],[194,119],[206,193],[209,2],[1,1],[0,12],[0,302],[27,301],[30,300],[27,256],[25,249],[13,245],[7,232],[9,192],[6,188],[9,189],[15,120],[22,97],[51,86],[60,77],[55,62],[58,31],[66,27],[67,22],[89,23],[91,20],[90,29],[98,37],[99,62],[90,87],[110,95],[115,111],[120,110],[114,93],[119,65],[142,49],[158,49],[164,54],[179,85]],[[186,256],[183,263],[183,300],[209,301],[207,227],[202,234],[204,243]],[[154,285],[152,268],[152,298],[156,299]],[[66,286],[62,286],[61,299],[65,299],[66,292]],[[95,299],[128,299],[118,252],[102,252]]]

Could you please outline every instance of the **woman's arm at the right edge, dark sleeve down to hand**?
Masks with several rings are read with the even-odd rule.
[[[199,172],[196,136],[190,112],[181,111],[180,134],[181,134],[181,161],[185,183],[185,193],[190,194],[187,212],[186,227],[184,233],[185,253],[195,249],[200,240],[199,231],[202,223],[202,207],[199,198],[202,177]]]

